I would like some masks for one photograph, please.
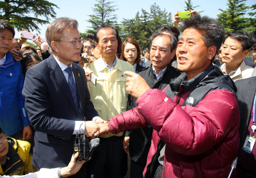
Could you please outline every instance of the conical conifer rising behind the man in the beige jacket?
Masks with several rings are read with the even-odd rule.
[[[113,2],[107,2],[107,0],[96,0],[98,4],[94,4],[95,8],[93,9],[94,14],[89,15],[90,19],[86,20],[91,23],[90,27],[92,29],[87,30],[88,34],[94,34],[96,29],[103,24],[107,25],[117,25],[117,15],[113,15],[118,8],[115,8],[116,5],[111,5]]]

